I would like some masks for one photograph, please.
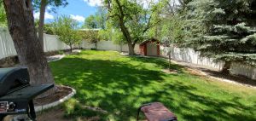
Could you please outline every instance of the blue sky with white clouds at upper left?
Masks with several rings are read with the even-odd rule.
[[[56,13],[45,13],[45,22],[49,23],[54,20],[55,16],[66,14],[74,20],[78,20],[80,24],[84,23],[84,19],[90,14],[96,13],[97,6],[101,5],[101,0],[67,0],[68,5],[56,9]],[[50,8],[50,6],[48,7]],[[35,18],[39,17],[39,13],[34,14]]]

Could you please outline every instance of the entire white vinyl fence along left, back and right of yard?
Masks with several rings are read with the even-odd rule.
[[[112,41],[100,41],[95,44],[88,43],[83,41],[79,46],[83,49],[100,49],[100,50],[114,50],[128,52],[127,45],[118,45],[114,44]],[[69,47],[57,39],[55,35],[44,34],[44,52],[57,51],[69,49]],[[139,46],[135,46],[135,52],[139,53]],[[167,57],[168,47],[160,46],[160,55]],[[9,35],[9,32],[0,28],[0,59],[5,57],[17,55],[14,43],[12,38]],[[181,48],[171,48],[171,56],[174,60],[180,60],[188,63],[193,63],[201,66],[212,67],[217,70],[221,70],[224,63],[223,62],[214,62],[209,58],[201,58],[198,52],[195,52],[193,49],[181,49]],[[232,63],[231,72],[234,74],[244,75],[248,78],[256,79],[256,68],[253,66],[247,66],[240,63]]]

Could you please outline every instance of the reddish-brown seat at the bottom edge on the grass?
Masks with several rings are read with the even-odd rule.
[[[144,113],[148,121],[177,121],[177,117],[160,102],[148,103],[139,107],[137,121],[140,112]]]

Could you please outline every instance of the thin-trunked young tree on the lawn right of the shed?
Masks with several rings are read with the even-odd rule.
[[[182,18],[183,12],[183,0],[175,3],[177,1],[165,0],[162,3],[166,4],[160,11],[158,18],[160,19],[160,24],[149,29],[149,34],[151,37],[157,38],[164,44],[168,49],[169,57],[169,70],[172,71],[171,66],[171,52],[172,47],[177,46],[178,43],[185,39],[185,32],[183,31],[184,20]]]

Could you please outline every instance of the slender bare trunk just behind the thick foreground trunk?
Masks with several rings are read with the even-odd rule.
[[[40,42],[43,49],[44,49],[44,14],[45,14],[46,6],[47,6],[47,0],[42,0],[41,1],[41,6],[40,6],[38,39],[39,39],[39,42]]]

